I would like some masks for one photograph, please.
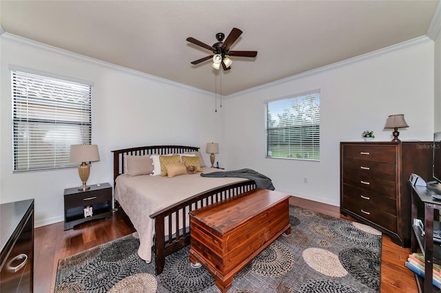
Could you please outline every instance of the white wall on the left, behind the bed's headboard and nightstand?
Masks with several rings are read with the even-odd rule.
[[[76,168],[12,173],[9,65],[94,83],[92,143],[101,160],[92,164],[89,184],[113,185],[112,150],[182,144],[199,146],[205,155],[205,144],[222,138],[223,111],[214,112],[214,94],[11,35],[1,36],[0,51],[0,203],[34,198],[36,226],[63,221],[63,191],[81,182]]]

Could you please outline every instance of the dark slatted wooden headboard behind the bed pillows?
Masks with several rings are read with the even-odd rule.
[[[113,153],[113,181],[123,173],[124,155],[167,155],[169,153],[186,153],[198,151],[196,146],[139,146],[130,149],[118,149]]]

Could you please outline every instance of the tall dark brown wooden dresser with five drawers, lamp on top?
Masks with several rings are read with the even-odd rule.
[[[411,243],[411,173],[432,180],[432,142],[340,142],[340,213]]]

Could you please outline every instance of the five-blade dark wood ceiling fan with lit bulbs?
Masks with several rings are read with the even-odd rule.
[[[207,61],[209,59],[213,59],[212,67],[214,69],[219,69],[220,65],[222,65],[224,70],[229,70],[231,67],[229,65],[232,64],[232,59],[228,58],[228,56],[236,56],[236,57],[256,57],[257,51],[230,51],[230,47],[233,43],[238,39],[238,37],[242,34],[242,31],[238,28],[233,28],[232,31],[227,36],[227,39],[223,41],[225,38],[225,34],[222,32],[218,32],[216,34],[217,43],[214,43],[212,46],[202,43],[192,37],[187,38],[187,41],[190,43],[194,43],[195,45],[201,46],[207,50],[213,52],[213,55],[206,56],[204,58],[193,61],[192,64],[196,65],[203,61]]]

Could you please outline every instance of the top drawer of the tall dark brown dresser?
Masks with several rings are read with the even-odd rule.
[[[355,159],[395,164],[395,146],[348,144],[344,146],[343,159]]]

